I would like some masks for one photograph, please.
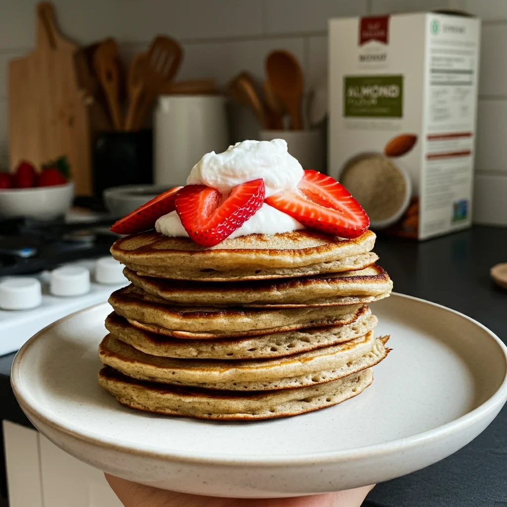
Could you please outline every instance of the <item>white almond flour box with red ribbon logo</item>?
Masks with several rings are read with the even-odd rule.
[[[469,227],[480,21],[438,13],[330,21],[329,174],[372,228]]]

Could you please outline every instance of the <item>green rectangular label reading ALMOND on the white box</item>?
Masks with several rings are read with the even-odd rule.
[[[403,76],[345,76],[346,117],[402,118]]]

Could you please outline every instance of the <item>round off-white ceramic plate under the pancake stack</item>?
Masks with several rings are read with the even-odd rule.
[[[111,308],[95,306],[35,335],[17,354],[22,409],[57,446],[106,472],[183,492],[281,497],[408,474],[457,451],[507,398],[507,349],[478,322],[392,295],[372,305],[393,349],[359,396],[261,422],[152,415],[119,405],[96,380]]]

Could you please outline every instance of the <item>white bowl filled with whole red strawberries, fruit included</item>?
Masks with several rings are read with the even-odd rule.
[[[20,162],[13,173],[0,172],[0,216],[51,220],[65,214],[74,199],[74,183],[66,157],[37,169]]]

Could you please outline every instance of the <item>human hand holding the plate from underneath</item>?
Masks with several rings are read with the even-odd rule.
[[[297,498],[244,499],[188,495],[143,486],[105,474],[125,507],[360,507],[373,486]]]

